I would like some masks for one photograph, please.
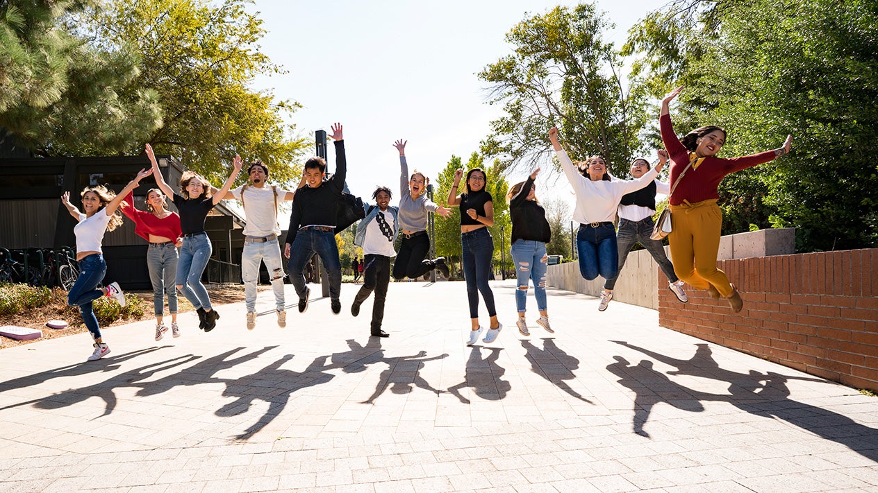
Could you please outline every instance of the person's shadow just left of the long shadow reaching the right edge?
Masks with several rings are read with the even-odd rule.
[[[615,363],[607,365],[607,370],[619,377],[617,382],[635,393],[634,432],[646,438],[650,434],[644,430],[650,418],[652,407],[659,403],[673,405],[683,411],[701,412],[704,406],[691,391],[671,381],[663,373],[652,368],[652,361],[641,360],[637,366],[630,364],[622,356],[613,356]]]

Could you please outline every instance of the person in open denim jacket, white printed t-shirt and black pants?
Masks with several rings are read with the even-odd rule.
[[[356,227],[354,245],[363,248],[363,287],[356,293],[350,314],[360,314],[360,305],[375,291],[372,304],[371,335],[390,337],[381,329],[384,319],[384,304],[387,298],[387,284],[390,282],[390,259],[396,255],[393,244],[399,232],[399,208],[389,207],[391,191],[378,187],[372,193],[375,205],[363,204],[366,217]]]

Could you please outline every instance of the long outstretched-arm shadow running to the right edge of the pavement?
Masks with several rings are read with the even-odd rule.
[[[774,372],[762,374],[755,370],[743,374],[720,368],[707,344],[696,345],[698,348],[691,359],[680,360],[627,342],[613,342],[677,368],[667,372],[667,375],[691,375],[730,384],[729,393],[725,395],[678,386],[687,389],[687,392],[702,402],[725,402],[756,416],[781,419],[821,438],[844,445],[871,461],[878,461],[878,430],[860,425],[837,412],[789,398],[790,392],[787,386],[789,380],[824,382],[823,379],[781,375]],[[634,390],[637,392],[637,389]]]

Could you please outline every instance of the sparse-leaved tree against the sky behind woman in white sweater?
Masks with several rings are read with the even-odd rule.
[[[636,79],[619,76],[623,60],[602,34],[611,26],[593,4],[557,7],[524,19],[506,36],[515,53],[488,65],[490,103],[506,115],[491,123],[482,152],[501,170],[541,160],[552,125],[572,159],[601,154],[616,174],[640,148],[644,98]]]

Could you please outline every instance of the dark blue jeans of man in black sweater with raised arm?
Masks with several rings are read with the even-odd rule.
[[[306,264],[315,253],[320,255],[320,261],[327,269],[329,298],[337,300],[342,294],[342,263],[338,260],[338,244],[335,243],[333,232],[301,229],[296,233],[296,239],[292,240],[290,247],[290,261],[286,264],[290,271],[292,286],[296,289],[299,298],[305,297],[303,273]]]

